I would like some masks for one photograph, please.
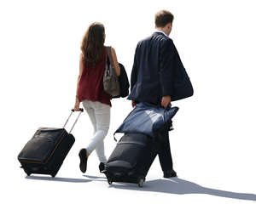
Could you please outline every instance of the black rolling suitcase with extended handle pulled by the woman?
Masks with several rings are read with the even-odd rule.
[[[83,111],[83,109],[80,109],[79,116]],[[72,110],[67,118],[67,122],[73,112]],[[73,127],[78,121],[79,116],[73,123]],[[69,133],[65,129],[67,122],[62,128],[38,128],[32,139],[20,151],[18,160],[28,176],[31,173],[38,173],[49,174],[55,177],[56,173],[58,173],[62,162],[75,141],[71,134],[73,127]]]

